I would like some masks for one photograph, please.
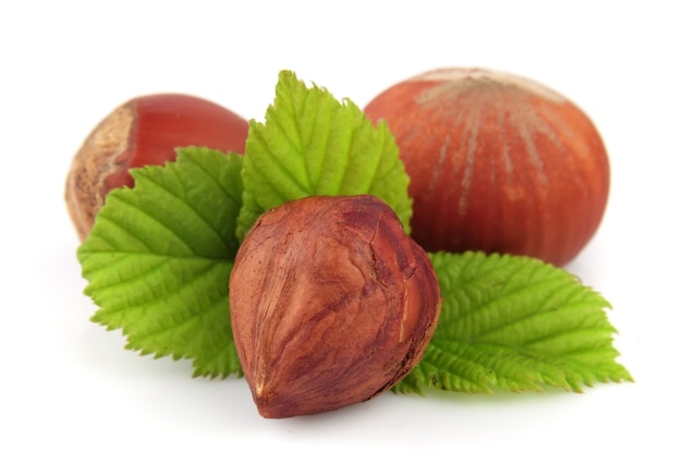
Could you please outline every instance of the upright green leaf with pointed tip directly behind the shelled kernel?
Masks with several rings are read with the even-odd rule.
[[[410,180],[387,125],[375,127],[352,101],[308,88],[290,71],[279,75],[265,123],[251,122],[243,181],[240,239],[263,212],[312,195],[374,195],[409,232]]]

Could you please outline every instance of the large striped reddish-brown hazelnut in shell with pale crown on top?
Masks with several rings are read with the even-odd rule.
[[[511,253],[557,266],[596,232],[609,162],[587,115],[501,72],[436,70],[365,108],[386,120],[411,176],[413,237],[425,249]]]

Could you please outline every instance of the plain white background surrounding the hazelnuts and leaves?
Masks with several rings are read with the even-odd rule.
[[[678,8],[3,2],[0,462],[681,462]],[[613,304],[620,362],[635,383],[584,394],[389,393],[268,420],[242,379],[193,379],[188,362],[141,357],[123,349],[120,332],[88,320],[95,307],[82,294],[63,186],[73,154],[114,107],[182,91],[261,119],[281,69],[362,107],[441,66],[532,77],[598,126],[611,196],[598,234],[569,269]]]

